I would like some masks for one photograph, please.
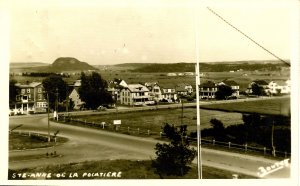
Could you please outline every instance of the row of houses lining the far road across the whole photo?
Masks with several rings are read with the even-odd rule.
[[[251,94],[253,84],[262,87],[267,95],[271,94],[289,94],[291,91],[290,80],[284,82],[266,82],[264,80],[256,80],[248,85],[246,93]],[[121,105],[139,106],[151,105],[156,102],[177,102],[181,96],[190,96],[194,89],[192,85],[186,83],[177,84],[175,87],[161,87],[157,82],[146,82],[138,84],[127,84],[124,80],[114,79],[108,83],[107,90],[111,93],[114,100]],[[214,99],[218,87],[220,85],[230,86],[233,90],[232,96],[238,98],[240,96],[240,86],[233,80],[224,80],[218,83],[207,81],[199,86],[201,99]],[[40,82],[32,82],[27,84],[16,84],[20,89],[20,94],[16,96],[14,105],[10,105],[10,109],[21,114],[38,113],[47,111],[47,100],[44,95],[44,88]],[[72,91],[69,99],[74,103],[75,110],[80,109],[84,102],[80,99],[78,90],[81,86],[81,80],[75,81],[70,85]]]

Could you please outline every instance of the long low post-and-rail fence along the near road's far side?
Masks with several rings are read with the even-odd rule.
[[[87,121],[83,119],[72,118],[69,116],[60,117],[61,122],[70,122],[71,124],[78,123],[82,125],[86,125],[93,128],[98,128],[102,130],[109,130],[115,131],[125,134],[133,134],[133,135],[144,135],[144,136],[157,136],[159,138],[165,138],[165,134],[162,132],[151,131],[149,129],[141,129],[141,128],[133,128],[129,126],[121,126],[121,125],[114,125],[112,123],[104,123],[104,122],[95,122],[95,121]],[[189,141],[196,144],[197,138],[187,137]],[[277,150],[272,150],[266,147],[253,147],[247,144],[241,145],[232,142],[222,142],[216,140],[208,140],[208,139],[201,139],[201,144],[212,147],[212,148],[222,148],[224,150],[230,151],[238,151],[244,153],[256,153],[264,156],[273,156],[273,157],[285,157],[288,158],[291,156],[290,152],[282,152]]]

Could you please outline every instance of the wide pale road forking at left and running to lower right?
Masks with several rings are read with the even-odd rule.
[[[45,115],[17,116],[11,117],[9,121],[10,128],[23,124],[18,130],[47,133],[47,117]],[[69,141],[63,145],[56,146],[55,149],[10,151],[9,168],[19,169],[85,160],[153,159],[155,157],[154,146],[158,141],[151,138],[145,139],[53,122],[50,122],[50,125],[52,134],[60,130],[59,135],[69,138]],[[61,156],[56,158],[22,160],[24,156],[44,155],[46,152],[54,150]],[[202,148],[202,162],[204,165],[252,176],[257,176],[259,167],[267,167],[275,163],[274,160],[265,158],[204,148]],[[288,178],[289,175],[290,168],[285,167],[265,176],[265,178]]]

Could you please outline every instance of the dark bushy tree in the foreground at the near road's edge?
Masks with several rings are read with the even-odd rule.
[[[163,174],[183,176],[189,171],[188,165],[196,157],[196,151],[189,147],[186,130],[186,125],[180,126],[179,130],[167,123],[164,125],[163,131],[171,142],[157,143],[155,146],[157,157],[152,161],[152,166],[161,177]]]

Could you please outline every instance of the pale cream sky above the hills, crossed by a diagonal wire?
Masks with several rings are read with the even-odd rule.
[[[202,62],[276,60],[206,6],[280,58],[290,59],[292,9],[283,3],[288,1],[12,2],[11,62],[52,63],[58,57],[92,65],[195,62],[196,42]]]

